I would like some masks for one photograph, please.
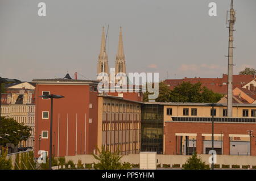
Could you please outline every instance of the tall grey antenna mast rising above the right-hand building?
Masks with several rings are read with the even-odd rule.
[[[228,15],[228,13],[227,13]],[[231,0],[229,12],[229,54],[228,54],[228,117],[232,117],[233,108],[233,44],[234,44],[234,23],[236,22],[236,11],[233,9],[233,0]]]

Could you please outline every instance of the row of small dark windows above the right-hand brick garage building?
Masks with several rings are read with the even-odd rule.
[[[172,108],[167,108],[166,111],[167,115],[172,115]],[[189,108],[183,108],[183,116],[188,116],[189,115]],[[216,109],[210,109],[210,116],[216,116]],[[228,116],[228,110],[223,109],[222,115]],[[244,109],[242,110],[242,115],[243,117],[249,117],[249,110]],[[191,116],[197,116],[197,108],[191,108]],[[256,117],[256,110],[251,110],[251,117]]]

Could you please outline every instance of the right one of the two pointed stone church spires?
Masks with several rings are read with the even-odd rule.
[[[115,74],[120,72],[126,74],[125,54],[123,53],[122,27],[120,27],[119,31],[118,52],[117,56],[115,57]]]

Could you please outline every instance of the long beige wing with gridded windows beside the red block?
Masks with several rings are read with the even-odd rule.
[[[116,96],[98,96],[98,148],[138,154],[141,145],[141,104]]]

